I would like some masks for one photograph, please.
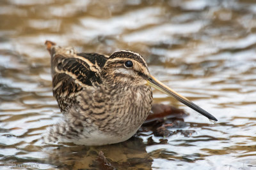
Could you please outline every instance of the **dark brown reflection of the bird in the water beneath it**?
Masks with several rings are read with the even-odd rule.
[[[66,169],[102,168],[99,152],[104,152],[111,167],[116,169],[150,169],[152,158],[147,154],[140,138],[108,146],[55,146],[46,147],[47,161],[52,166]]]

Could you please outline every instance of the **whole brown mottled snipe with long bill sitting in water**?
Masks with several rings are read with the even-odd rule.
[[[157,81],[136,52],[121,50],[107,56],[77,53],[51,41],[45,45],[51,54],[53,95],[64,117],[51,127],[46,142],[107,145],[131,138],[151,109],[151,87],[217,121]]]

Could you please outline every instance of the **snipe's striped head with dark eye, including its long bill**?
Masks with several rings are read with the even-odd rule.
[[[114,52],[109,56],[102,69],[102,73],[113,85],[123,85],[124,87],[149,85],[154,87],[168,96],[175,97],[175,99],[198,111],[198,113],[201,113],[205,117],[217,121],[210,113],[154,78],[148,71],[147,63],[138,53],[125,50]]]

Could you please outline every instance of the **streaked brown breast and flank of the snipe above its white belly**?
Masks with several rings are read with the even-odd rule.
[[[147,85],[113,87],[84,92],[80,98],[81,114],[90,119],[100,132],[126,138],[127,134],[134,134],[147,118],[152,90]]]

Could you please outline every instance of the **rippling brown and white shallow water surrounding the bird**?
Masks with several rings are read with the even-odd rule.
[[[45,145],[61,118],[44,41],[79,52],[141,53],[150,73],[218,118],[154,90],[154,103],[189,113],[168,138],[140,129],[124,143]],[[0,2],[0,159],[3,169],[97,169],[101,150],[118,169],[256,169],[254,1]],[[22,167],[23,166],[23,167]]]

